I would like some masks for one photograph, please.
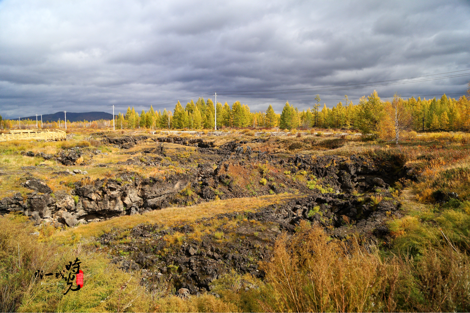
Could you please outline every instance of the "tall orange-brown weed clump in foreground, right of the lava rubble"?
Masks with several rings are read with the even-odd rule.
[[[274,259],[264,264],[260,306],[265,312],[392,312],[400,267],[398,258],[382,260],[374,246],[353,240],[347,247],[303,223],[294,237],[277,241]]]

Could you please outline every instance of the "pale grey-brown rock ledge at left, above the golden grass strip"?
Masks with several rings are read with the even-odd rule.
[[[84,183],[82,185],[82,183]],[[79,223],[100,221],[119,215],[139,214],[170,206],[173,197],[188,184],[185,180],[151,181],[135,180],[122,183],[116,180],[76,183],[71,195],[64,191],[54,194],[40,194],[51,191],[39,180],[28,180],[25,186],[36,191],[25,198],[16,193],[0,201],[0,213],[22,212],[36,224],[49,222],[58,227],[74,227]]]

